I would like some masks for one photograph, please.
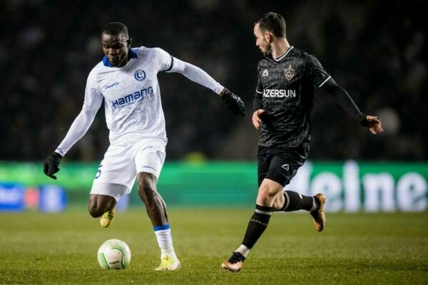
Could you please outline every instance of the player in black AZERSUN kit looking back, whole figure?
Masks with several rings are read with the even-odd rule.
[[[242,244],[221,266],[240,271],[243,261],[265,231],[274,211],[310,212],[317,232],[325,227],[325,195],[305,196],[284,191],[305,162],[310,145],[310,113],[316,88],[327,91],[342,108],[373,134],[382,133],[377,117],[363,115],[345,89],[338,86],[320,62],[290,46],[285,20],[267,13],[255,21],[256,46],[265,55],[258,63],[253,102],[253,125],[261,129],[258,148],[259,192]]]

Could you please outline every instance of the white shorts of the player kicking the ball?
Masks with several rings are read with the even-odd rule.
[[[129,145],[110,145],[98,166],[91,194],[114,197],[116,200],[129,194],[138,172],[161,175],[165,162],[166,142],[147,139]]]

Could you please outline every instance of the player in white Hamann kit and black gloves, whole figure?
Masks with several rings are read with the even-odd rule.
[[[175,270],[180,261],[173,248],[165,202],[156,190],[167,143],[157,74],[181,73],[210,88],[236,115],[244,115],[245,105],[205,71],[173,58],[161,48],[131,48],[124,24],[108,24],[101,42],[105,56],[89,73],[81,113],[66,138],[45,160],[44,173],[56,179],[61,158],[85,135],[104,100],[111,145],[93,180],[88,211],[92,217],[100,218],[101,226],[108,227],[116,203],[131,192],[137,180],[138,195],[146,205],[161,248],[161,265],[155,270]]]

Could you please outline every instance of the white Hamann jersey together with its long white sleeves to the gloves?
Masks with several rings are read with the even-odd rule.
[[[223,86],[197,66],[173,58],[161,48],[129,48],[128,63],[113,67],[106,57],[89,73],[81,113],[56,152],[64,156],[91,126],[104,99],[106,123],[112,145],[144,138],[166,142],[158,72],[181,73],[191,81],[220,94]]]

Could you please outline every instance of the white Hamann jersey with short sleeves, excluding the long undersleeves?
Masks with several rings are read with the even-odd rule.
[[[89,73],[83,108],[98,110],[104,98],[111,144],[141,138],[166,140],[157,75],[172,65],[173,58],[161,48],[141,47],[130,49],[125,66],[111,67],[105,58]]]

